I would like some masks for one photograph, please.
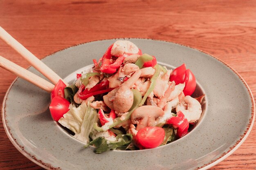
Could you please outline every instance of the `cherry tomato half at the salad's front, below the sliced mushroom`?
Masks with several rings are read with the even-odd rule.
[[[164,141],[164,129],[161,127],[148,126],[137,132],[138,143],[145,148],[156,148]]]

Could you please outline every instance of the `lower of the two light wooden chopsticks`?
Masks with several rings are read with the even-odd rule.
[[[30,71],[26,70],[25,68],[5,59],[4,57],[0,56],[0,67],[10,71],[11,73],[16,74],[18,77],[31,82],[32,84],[42,88],[47,92],[51,92],[54,88],[54,85],[50,82],[47,82],[45,79],[31,73]]]

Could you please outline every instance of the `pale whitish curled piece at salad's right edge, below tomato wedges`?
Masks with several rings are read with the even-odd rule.
[[[197,121],[202,113],[201,104],[191,96],[185,96],[176,107],[176,112],[181,111],[189,123]]]

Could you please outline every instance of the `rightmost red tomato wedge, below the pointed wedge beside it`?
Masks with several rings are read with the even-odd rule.
[[[184,95],[185,96],[192,95],[195,91],[196,81],[195,81],[195,76],[189,69],[186,70],[184,83],[185,83],[185,88],[183,90]]]

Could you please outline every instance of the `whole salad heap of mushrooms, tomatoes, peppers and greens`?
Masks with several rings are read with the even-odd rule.
[[[117,40],[94,66],[51,93],[52,118],[95,153],[141,150],[175,141],[202,113],[196,81],[186,65],[168,70],[132,42]]]

